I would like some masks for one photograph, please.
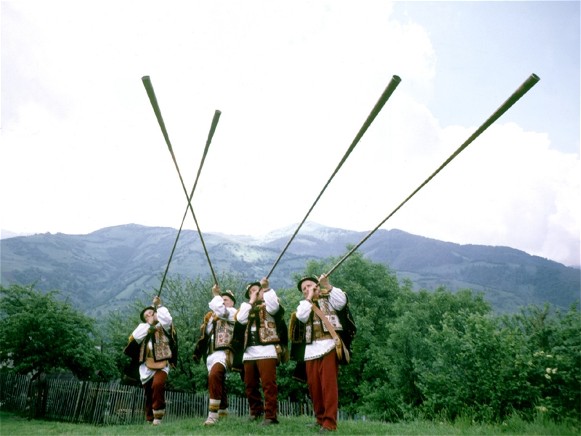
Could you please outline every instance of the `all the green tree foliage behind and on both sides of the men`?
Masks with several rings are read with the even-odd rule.
[[[303,274],[293,278],[318,276],[335,262],[334,258],[310,262]],[[219,281],[222,289],[234,292],[239,307],[246,283],[231,275]],[[358,328],[351,363],[340,367],[342,411],[384,421],[428,417],[501,422],[512,414],[525,419],[540,415],[581,420],[581,315],[577,305],[566,313],[532,306],[517,314],[496,315],[482,294],[469,289],[452,293],[445,288],[416,292],[410,280],[398,280],[389,268],[359,253],[333,272],[331,283],[347,292]],[[161,297],[172,313],[180,349],[177,367],[168,379],[170,389],[207,389],[207,369],[202,363],[195,364],[192,355],[209,310],[212,285],[210,278],[172,277],[163,290]],[[302,294],[296,287],[271,285],[288,322]],[[38,295],[30,288],[3,289],[0,357],[4,362],[13,359],[14,368],[21,372],[48,370],[40,365],[52,362],[50,368],[72,365],[76,373],[85,375],[93,360],[99,362],[102,377],[118,378],[126,363],[123,348],[128,336],[139,323],[141,309],[155,294],[156,290],[144,292],[131,313],[110,313],[100,320],[94,334],[90,320],[57,303],[51,294]],[[18,324],[5,322],[16,316],[22,317]],[[61,322],[65,318],[68,324]],[[59,347],[63,346],[50,354],[44,344],[54,341],[67,325],[66,330],[74,334],[70,339],[59,336]],[[98,356],[88,351],[94,348],[83,346],[82,351],[63,357],[68,351],[65,348],[79,348],[71,343],[95,341],[101,345]],[[45,354],[37,355],[38,350]],[[291,361],[277,369],[280,399],[307,398],[307,386],[292,378],[294,365]],[[229,374],[227,386],[231,394],[244,395],[238,374]]]

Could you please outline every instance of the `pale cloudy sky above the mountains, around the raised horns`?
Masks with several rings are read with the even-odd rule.
[[[308,220],[371,231],[536,74],[381,228],[579,266],[579,22],[578,1],[2,1],[1,228],[179,227],[143,76],[202,233],[261,236],[329,180]]]

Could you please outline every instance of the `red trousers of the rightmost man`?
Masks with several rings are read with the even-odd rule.
[[[315,360],[305,361],[307,384],[317,423],[329,430],[337,429],[339,409],[339,360],[335,350]]]

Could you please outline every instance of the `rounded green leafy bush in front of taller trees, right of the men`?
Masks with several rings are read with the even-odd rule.
[[[530,406],[531,387],[517,362],[526,356],[522,335],[499,328],[498,319],[460,310],[446,313],[425,338],[418,387],[429,417],[499,421]]]

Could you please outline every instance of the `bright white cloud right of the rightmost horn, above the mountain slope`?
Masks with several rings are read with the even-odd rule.
[[[471,133],[466,129],[465,139]],[[442,170],[392,225],[578,265],[579,169],[579,157],[552,150],[546,134],[499,123]]]

